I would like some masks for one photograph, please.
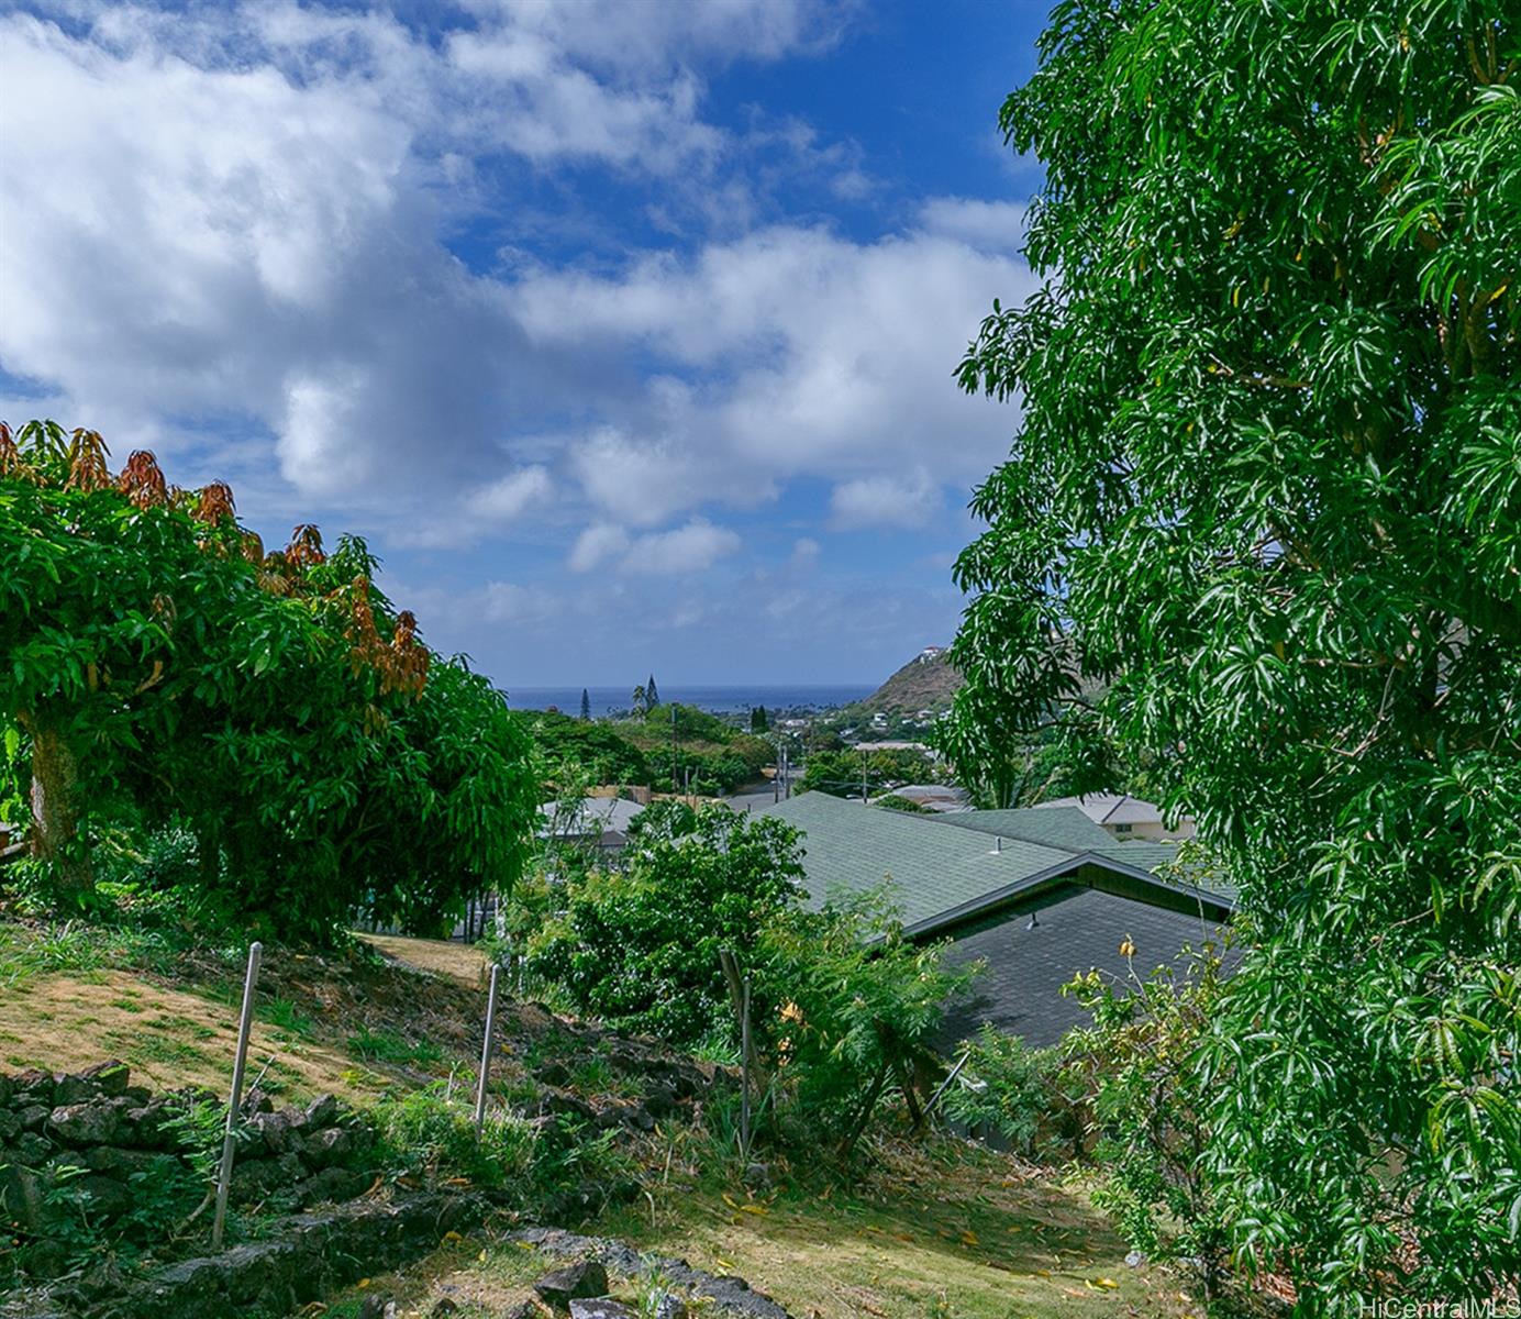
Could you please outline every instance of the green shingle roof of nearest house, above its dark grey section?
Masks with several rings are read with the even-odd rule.
[[[1118,850],[1130,844],[1115,844],[1080,812],[1049,825],[1028,818],[1033,811],[914,815],[805,793],[764,814],[805,832],[805,887],[814,905],[885,882],[910,936],[948,931],[1060,882],[1104,887],[1174,910],[1202,905],[1226,916],[1234,907],[1229,895],[1154,875],[1150,849],[1145,855]],[[998,818],[984,820],[984,828],[973,823],[978,815]],[[1019,837],[1021,831],[1034,837]]]

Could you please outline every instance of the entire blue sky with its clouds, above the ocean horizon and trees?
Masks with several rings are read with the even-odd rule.
[[[505,686],[872,682],[1018,411],[952,370],[1042,3],[0,9],[0,417],[365,536]]]

